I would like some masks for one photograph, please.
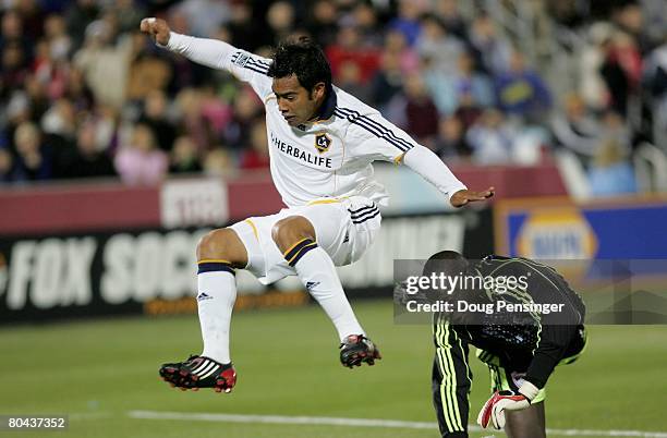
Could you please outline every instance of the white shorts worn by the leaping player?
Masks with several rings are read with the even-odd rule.
[[[377,205],[363,196],[323,198],[305,206],[283,208],[276,215],[251,217],[230,228],[247,251],[247,266],[263,284],[296,275],[271,238],[276,222],[290,216],[305,217],[315,229],[317,245],[344,266],[359,260],[379,231],[381,216]]]

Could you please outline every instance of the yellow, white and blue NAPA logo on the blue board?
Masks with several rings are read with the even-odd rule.
[[[578,209],[544,209],[532,212],[521,227],[517,251],[543,260],[592,259],[597,238]]]

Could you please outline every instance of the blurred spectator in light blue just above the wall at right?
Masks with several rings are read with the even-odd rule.
[[[605,141],[595,154],[589,171],[593,196],[618,196],[636,193],[636,181],[622,146],[614,138]]]

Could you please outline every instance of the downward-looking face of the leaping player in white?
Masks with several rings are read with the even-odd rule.
[[[314,89],[308,92],[293,74],[275,77],[272,89],[280,113],[290,126],[299,126],[315,118],[325,94],[324,83],[316,84]]]

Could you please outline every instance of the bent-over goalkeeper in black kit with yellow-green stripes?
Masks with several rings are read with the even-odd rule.
[[[433,326],[433,401],[441,436],[468,437],[474,345],[493,391],[477,424],[505,428],[511,438],[545,437],[545,385],[556,365],[575,361],[586,343],[581,297],[551,267],[520,257],[473,263],[444,251],[428,259],[422,277],[437,276],[456,283],[403,297],[449,303]]]

